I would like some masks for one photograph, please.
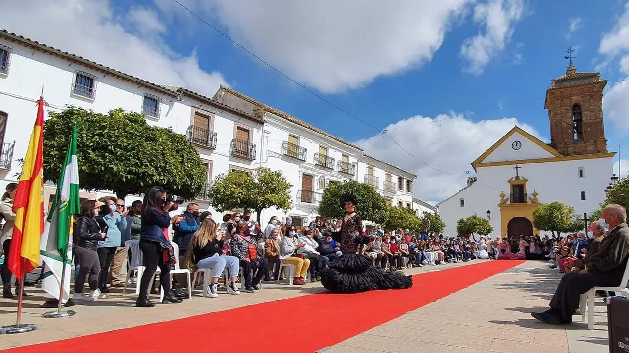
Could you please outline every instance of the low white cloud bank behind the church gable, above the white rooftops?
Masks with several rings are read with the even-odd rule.
[[[414,116],[387,126],[387,135],[434,170],[402,151],[386,136],[376,135],[357,142],[365,152],[417,175],[415,196],[425,201],[440,201],[465,186],[465,171],[470,163],[496,143],[514,125],[538,136],[528,124],[514,118],[470,121],[451,114],[435,118]]]

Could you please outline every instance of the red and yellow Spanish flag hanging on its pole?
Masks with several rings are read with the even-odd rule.
[[[9,269],[19,281],[39,266],[43,234],[43,114],[44,100],[37,101],[37,119],[26,149],[18,190],[13,200],[15,225],[9,251]]]

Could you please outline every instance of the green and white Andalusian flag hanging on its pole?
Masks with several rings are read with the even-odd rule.
[[[72,127],[72,138],[65,153],[65,163],[57,182],[57,192],[48,214],[47,234],[42,237],[41,254],[45,264],[42,288],[59,298],[65,264],[64,296],[70,298],[72,263],[72,225],[79,214],[79,163],[77,163],[77,127]]]

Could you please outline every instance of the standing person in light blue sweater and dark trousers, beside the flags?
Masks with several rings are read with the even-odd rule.
[[[114,259],[116,250],[120,247],[122,241],[122,232],[126,229],[126,212],[125,217],[119,212],[116,212],[116,202],[118,198],[106,197],[103,199],[109,206],[108,212],[102,212],[101,216],[103,221],[107,224],[107,236],[105,239],[98,242],[98,259],[101,264],[101,273],[99,274],[98,288],[101,291],[101,297],[104,297],[107,293],[111,293],[107,288],[107,276],[109,273],[109,266]],[[79,255],[80,256],[80,255]]]

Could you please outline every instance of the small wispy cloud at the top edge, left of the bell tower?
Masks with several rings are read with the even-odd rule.
[[[474,21],[484,24],[485,33],[467,38],[461,46],[460,55],[468,62],[465,71],[481,74],[491,58],[511,40],[513,26],[523,13],[523,0],[489,0],[477,4]]]

